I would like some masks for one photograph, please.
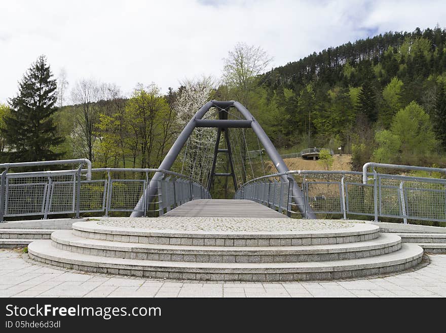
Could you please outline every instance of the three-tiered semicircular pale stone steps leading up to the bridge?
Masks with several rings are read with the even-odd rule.
[[[185,231],[189,220],[182,224],[174,218],[181,231],[78,222],[72,231],[58,230],[51,240],[30,243],[28,253],[35,261],[86,272],[214,281],[387,274],[416,266],[423,255],[417,244],[402,244],[398,235],[365,223],[311,231]]]

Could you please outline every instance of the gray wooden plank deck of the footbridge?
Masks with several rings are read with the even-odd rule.
[[[287,217],[251,200],[199,199],[172,209],[164,216]]]

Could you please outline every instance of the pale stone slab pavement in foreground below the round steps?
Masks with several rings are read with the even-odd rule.
[[[0,250],[0,297],[446,297],[446,255],[416,271],[315,283],[217,283],[86,274],[27,261]]]

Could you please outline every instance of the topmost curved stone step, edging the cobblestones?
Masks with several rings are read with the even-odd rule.
[[[311,232],[194,232],[119,228],[98,225],[94,221],[73,224],[73,234],[90,239],[125,243],[206,246],[292,246],[344,244],[375,239],[379,227],[355,224],[350,228]]]

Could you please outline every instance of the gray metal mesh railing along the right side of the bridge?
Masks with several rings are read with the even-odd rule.
[[[429,170],[432,171],[432,170]],[[292,175],[289,182],[281,175]],[[302,213],[294,204],[292,189],[303,193],[306,212],[342,218],[371,216],[407,220],[446,221],[446,179],[355,171],[289,171],[259,177],[243,184],[235,199],[267,205],[288,216]]]

